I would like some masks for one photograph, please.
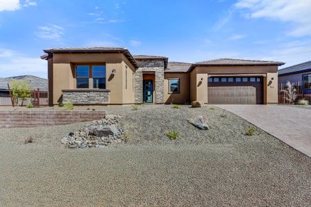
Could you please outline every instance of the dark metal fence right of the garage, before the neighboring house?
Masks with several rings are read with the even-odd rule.
[[[294,88],[296,88],[297,92],[297,99],[306,99],[311,103],[311,95],[307,95],[303,93],[303,87],[301,86],[301,82],[291,82],[294,85]],[[279,103],[280,104],[290,104],[288,100],[286,100],[286,83],[279,83]]]

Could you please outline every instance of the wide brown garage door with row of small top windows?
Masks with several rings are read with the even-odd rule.
[[[209,103],[263,103],[262,77],[209,77],[208,81]]]

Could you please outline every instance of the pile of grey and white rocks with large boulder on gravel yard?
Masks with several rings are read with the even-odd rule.
[[[120,118],[119,115],[106,115],[104,119],[93,121],[78,132],[69,132],[62,139],[62,144],[68,148],[103,148],[120,143],[124,133],[120,126]]]

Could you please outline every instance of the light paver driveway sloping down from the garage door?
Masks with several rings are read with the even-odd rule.
[[[311,157],[311,110],[272,105],[215,105],[250,123]]]

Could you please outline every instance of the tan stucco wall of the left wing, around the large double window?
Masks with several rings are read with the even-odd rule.
[[[75,89],[74,66],[77,64],[105,64],[106,89],[111,90],[111,104],[133,103],[133,66],[123,54],[54,54],[53,103],[57,104],[63,89]],[[125,66],[128,66],[128,87],[125,90]],[[115,69],[115,75],[112,70]],[[93,87],[93,84],[90,86]],[[91,88],[90,87],[90,88]]]

